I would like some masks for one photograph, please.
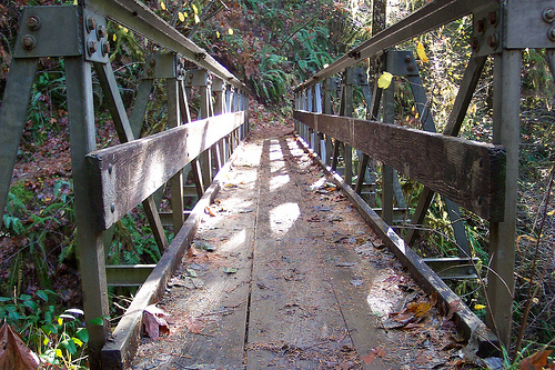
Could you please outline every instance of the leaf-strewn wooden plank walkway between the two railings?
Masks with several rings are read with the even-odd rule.
[[[442,350],[456,337],[452,322],[428,311],[433,299],[326,187],[291,134],[253,139],[239,151],[158,304],[170,333],[143,339],[133,369],[432,369],[454,361],[453,349]]]

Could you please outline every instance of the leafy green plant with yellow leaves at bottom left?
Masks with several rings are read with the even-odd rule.
[[[79,319],[80,309],[67,309],[54,314],[56,292],[38,290],[36,297],[0,297],[0,321],[14,328],[24,343],[34,351],[42,364],[67,369],[87,369],[89,332]]]

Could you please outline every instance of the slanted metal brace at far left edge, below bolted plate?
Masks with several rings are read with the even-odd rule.
[[[0,106],[0,228],[27,117],[38,58],[13,59]]]

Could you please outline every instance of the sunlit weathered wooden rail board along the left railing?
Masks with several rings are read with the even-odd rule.
[[[90,181],[98,183],[91,194],[93,227],[108,229],[243,119],[243,111],[211,117],[89,153]]]

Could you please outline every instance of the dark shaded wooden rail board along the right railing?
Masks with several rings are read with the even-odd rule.
[[[293,117],[484,219],[503,220],[506,156],[502,146],[337,116],[294,111]]]

